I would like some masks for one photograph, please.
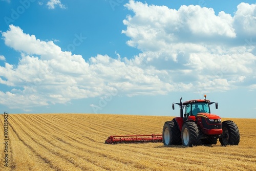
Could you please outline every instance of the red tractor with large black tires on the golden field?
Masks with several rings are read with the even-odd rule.
[[[210,102],[204,99],[189,100],[178,104],[180,106],[180,117],[167,121],[163,126],[164,145],[194,146],[200,144],[217,144],[218,138],[222,145],[238,145],[240,133],[236,123],[231,120],[221,122],[221,117],[210,113]],[[183,109],[184,116],[183,116]]]

